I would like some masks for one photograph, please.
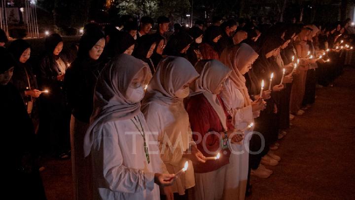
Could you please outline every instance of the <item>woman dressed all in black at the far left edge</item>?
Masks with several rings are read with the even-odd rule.
[[[1,151],[5,152],[2,189],[13,194],[11,199],[46,200],[42,180],[36,165],[35,130],[20,92],[10,83],[15,59],[0,47],[0,126]],[[19,192],[21,188],[21,192]]]

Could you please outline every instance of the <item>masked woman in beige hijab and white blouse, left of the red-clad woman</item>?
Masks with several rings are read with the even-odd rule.
[[[142,112],[150,131],[158,132],[155,137],[168,172],[176,174],[186,161],[189,163],[187,171],[177,177],[175,184],[164,188],[167,200],[172,196],[176,200],[187,198],[185,190],[195,186],[191,161],[205,162],[192,140],[183,105],[183,99],[189,94],[189,84],[198,76],[186,59],[168,56],[159,63],[144,96]]]

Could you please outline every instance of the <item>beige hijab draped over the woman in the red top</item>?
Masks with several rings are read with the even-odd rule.
[[[192,86],[192,91],[194,94],[203,93],[218,115],[224,130],[228,130],[223,107],[213,91],[230,75],[232,70],[218,60],[201,60],[196,63],[195,68],[200,73],[200,77]]]

